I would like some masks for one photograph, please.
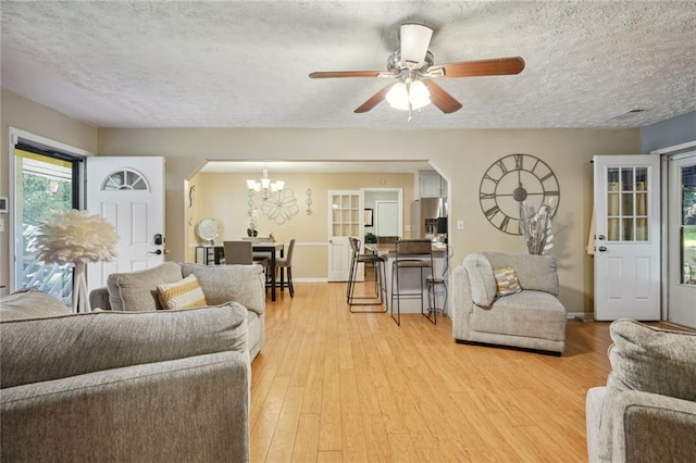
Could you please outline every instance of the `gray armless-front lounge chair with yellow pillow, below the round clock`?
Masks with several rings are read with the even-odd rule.
[[[511,266],[520,292],[497,295],[494,271]],[[452,336],[457,342],[507,346],[560,355],[567,312],[552,255],[477,252],[452,273]]]

